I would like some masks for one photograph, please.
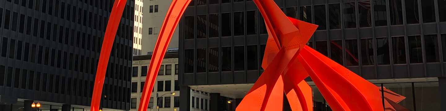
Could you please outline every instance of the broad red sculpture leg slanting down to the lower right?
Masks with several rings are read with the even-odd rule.
[[[383,111],[379,88],[306,46],[299,60],[334,111]]]

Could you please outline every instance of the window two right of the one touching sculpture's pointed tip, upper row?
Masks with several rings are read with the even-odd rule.
[[[356,28],[355,2],[344,3],[344,27]]]

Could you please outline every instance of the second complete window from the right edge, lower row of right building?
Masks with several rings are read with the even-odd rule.
[[[409,63],[423,63],[421,51],[421,36],[407,36],[409,45]]]

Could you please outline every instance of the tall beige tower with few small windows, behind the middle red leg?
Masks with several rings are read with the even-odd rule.
[[[163,24],[167,10],[172,0],[144,0],[144,19],[142,28],[141,52],[153,52],[158,39],[158,33]],[[178,48],[178,27],[170,40],[169,48]]]

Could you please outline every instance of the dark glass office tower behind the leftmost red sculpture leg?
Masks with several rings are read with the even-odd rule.
[[[114,0],[0,0],[0,109],[16,111],[14,107],[25,104],[26,111],[28,100],[89,109],[113,4]],[[116,34],[103,108],[130,110],[133,7],[134,0],[128,0]]]

